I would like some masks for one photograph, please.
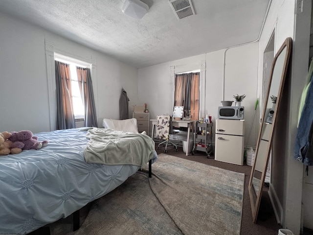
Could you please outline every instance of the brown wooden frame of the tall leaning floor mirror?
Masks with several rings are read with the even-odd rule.
[[[273,63],[272,63],[271,71],[270,71],[270,77],[269,77],[269,81],[268,81],[268,91],[267,91],[267,95],[266,95],[265,103],[264,103],[264,108],[263,108],[263,112],[262,112],[262,119],[261,119],[262,123],[261,123],[260,131],[259,131],[259,135],[258,135],[258,141],[257,141],[256,149],[255,149],[255,158],[253,160],[251,175],[250,175],[250,181],[249,181],[249,186],[248,186],[249,187],[249,197],[250,197],[250,203],[251,203],[251,210],[252,210],[252,216],[253,216],[253,222],[254,223],[256,223],[256,221],[257,221],[260,202],[261,202],[261,198],[262,198],[262,191],[263,191],[264,180],[265,180],[266,172],[267,172],[268,159],[269,159],[270,151],[272,148],[272,140],[273,140],[273,132],[274,132],[275,122],[276,122],[276,114],[277,114],[277,110],[279,110],[280,97],[283,93],[286,73],[287,73],[288,64],[289,64],[289,58],[290,58],[290,54],[291,54],[291,46],[292,46],[292,39],[287,38],[284,41],[283,45],[277,51],[277,53],[274,57]],[[284,55],[285,58],[284,58],[284,64],[283,64],[282,71],[281,71],[277,100],[276,100],[276,105],[274,108],[274,114],[272,117],[272,123],[271,123],[271,127],[269,130],[269,135],[268,135],[268,144],[267,144],[265,156],[261,156],[262,152],[259,151],[259,149],[260,149],[260,144],[261,144],[261,140],[262,140],[262,135],[265,134],[264,133],[265,131],[268,131],[268,129],[266,130],[266,124],[268,124],[268,123],[266,123],[265,121],[267,118],[266,115],[267,115],[267,108],[268,108],[268,97],[270,95],[272,77],[273,77],[273,73],[275,71],[276,62],[277,62],[279,56],[283,55],[282,52],[284,51],[284,49],[286,49],[286,54]],[[259,156],[258,156],[258,154],[259,154]],[[264,162],[263,163],[261,162],[261,164],[262,164],[261,168],[263,169],[263,172],[262,172],[262,176],[260,179],[260,185],[258,187],[258,192],[256,192],[256,190],[253,186],[253,176],[255,173],[255,167],[256,167],[258,157],[261,160],[263,157]]]

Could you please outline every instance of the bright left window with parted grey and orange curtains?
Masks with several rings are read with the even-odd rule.
[[[90,69],[77,65],[55,60],[57,129],[75,128],[82,121],[84,126],[97,127]]]

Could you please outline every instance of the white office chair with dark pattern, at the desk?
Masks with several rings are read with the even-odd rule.
[[[171,119],[169,115],[156,116],[156,138],[159,138],[160,141],[164,140],[158,144],[157,149],[160,149],[161,144],[165,144],[165,153],[167,153],[167,145],[169,143],[174,146],[176,152],[178,151],[177,145],[170,141]]]

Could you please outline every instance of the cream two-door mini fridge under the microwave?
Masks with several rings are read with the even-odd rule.
[[[245,120],[216,119],[215,160],[244,164]]]

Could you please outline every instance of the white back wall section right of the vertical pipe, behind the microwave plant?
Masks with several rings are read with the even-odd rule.
[[[245,144],[252,124],[255,102],[258,98],[258,48],[258,43],[253,43],[233,47],[226,51],[225,100],[234,100],[234,94],[246,94],[246,98],[241,102],[241,105],[245,107]],[[257,110],[248,145],[256,145],[260,120],[259,113]]]

